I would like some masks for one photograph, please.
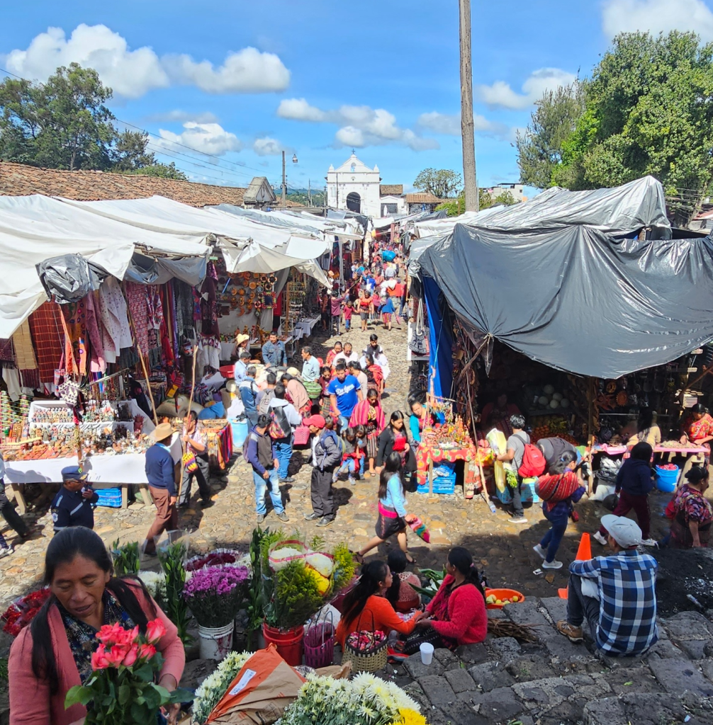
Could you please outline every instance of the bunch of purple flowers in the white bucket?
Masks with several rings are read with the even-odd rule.
[[[245,566],[208,566],[193,573],[183,597],[200,626],[221,627],[235,619],[249,580]]]

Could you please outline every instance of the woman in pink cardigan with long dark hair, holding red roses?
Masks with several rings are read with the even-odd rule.
[[[131,576],[113,576],[113,564],[102,539],[91,529],[71,526],[49,542],[44,558],[44,583],[52,595],[10,647],[8,663],[10,722],[22,725],[79,725],[86,708],[65,710],[70,687],[91,677],[94,638],[105,624],[124,629],[160,618],[166,633],[158,642],[163,655],[158,684],[178,687],[185,664],[183,643],[176,625],[158,608],[142,582]],[[179,706],[171,706],[169,722]]]

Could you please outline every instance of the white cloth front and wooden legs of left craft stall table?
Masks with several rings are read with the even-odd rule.
[[[171,442],[171,456],[174,463],[182,457],[181,439],[174,433]],[[87,480],[94,488],[110,489],[121,486],[121,508],[126,508],[128,491],[126,486],[139,486],[147,494],[148,479],[144,471],[144,453],[117,453],[115,455],[95,454],[83,458],[82,468]],[[64,458],[41,458],[39,460],[10,460],[5,462],[5,482],[15,494],[18,513],[25,513],[25,484],[57,484],[62,481],[62,468],[78,465],[76,455]],[[150,496],[147,498],[150,500]]]

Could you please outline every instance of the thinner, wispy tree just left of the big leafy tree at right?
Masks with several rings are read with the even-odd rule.
[[[529,125],[517,133],[521,183],[535,188],[552,186],[553,171],[562,162],[563,144],[582,113],[584,93],[579,80],[570,86],[545,91],[535,104]]]

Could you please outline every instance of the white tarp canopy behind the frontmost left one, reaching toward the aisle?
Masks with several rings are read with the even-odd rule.
[[[295,267],[328,284],[325,273],[314,261],[329,249],[322,239],[244,220],[212,207],[196,209],[164,196],[107,202],[62,201],[139,228],[210,241],[220,249],[231,273],[265,274]]]

